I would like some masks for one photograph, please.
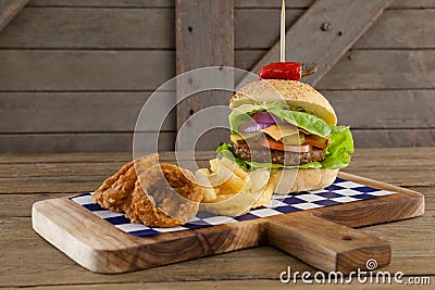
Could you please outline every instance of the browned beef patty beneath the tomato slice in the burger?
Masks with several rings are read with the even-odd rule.
[[[312,148],[312,150],[307,153],[296,153],[273,149],[249,149],[243,148],[235,142],[232,143],[234,155],[245,161],[272,162],[274,164],[284,164],[288,166],[307,164],[315,161],[322,162],[326,157],[326,151],[318,148]]]

